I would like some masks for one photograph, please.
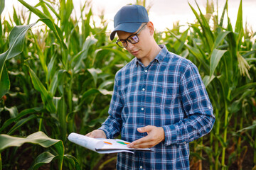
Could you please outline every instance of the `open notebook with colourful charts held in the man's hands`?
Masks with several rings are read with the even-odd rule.
[[[100,154],[110,154],[116,152],[130,152],[134,154],[132,150],[151,151],[151,149],[149,148],[129,148],[127,147],[127,144],[129,144],[129,142],[124,140],[92,138],[85,135],[80,135],[75,132],[68,135],[68,140]]]

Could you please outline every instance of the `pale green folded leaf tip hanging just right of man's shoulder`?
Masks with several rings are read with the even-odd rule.
[[[227,50],[217,50],[214,49],[210,56],[210,78],[213,76],[213,73],[220,62],[221,57],[227,52]]]

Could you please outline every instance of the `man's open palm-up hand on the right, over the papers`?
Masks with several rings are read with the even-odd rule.
[[[127,145],[132,148],[146,148],[154,147],[164,140],[164,129],[152,125],[147,125],[142,128],[137,128],[138,132],[147,132],[147,136],[135,140],[134,142]]]

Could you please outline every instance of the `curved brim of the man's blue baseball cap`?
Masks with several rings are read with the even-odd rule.
[[[110,40],[114,39],[114,35],[118,30],[122,30],[127,33],[135,33],[140,26],[142,26],[142,23],[120,23],[110,34]]]

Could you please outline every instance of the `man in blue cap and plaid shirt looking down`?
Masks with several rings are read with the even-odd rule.
[[[114,16],[117,45],[134,59],[114,79],[109,117],[89,137],[132,142],[153,152],[119,153],[117,169],[189,169],[189,142],[206,135],[215,121],[196,66],[154,40],[143,6],[122,7]],[[118,56],[117,56],[118,57]]]

